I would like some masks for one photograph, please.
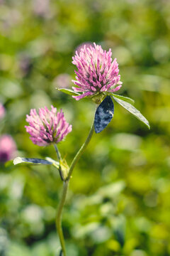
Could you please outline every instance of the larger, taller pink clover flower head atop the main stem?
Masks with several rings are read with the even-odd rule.
[[[112,60],[111,55],[111,49],[106,52],[96,43],[94,46],[85,45],[80,53],[76,52],[72,63],[78,68],[78,71],[75,70],[77,80],[72,82],[77,87],[72,88],[74,92],[81,92],[81,95],[72,97],[76,100],[92,97],[96,103],[99,103],[103,97],[120,89],[122,82],[118,75],[118,63],[116,58]]]

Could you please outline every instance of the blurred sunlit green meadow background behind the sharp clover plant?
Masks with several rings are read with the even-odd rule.
[[[72,87],[72,55],[84,42],[112,49],[123,81],[118,93],[132,97],[151,125],[115,102],[111,124],[94,134],[64,208],[69,256],[170,255],[169,10],[167,0],[0,1],[0,132],[11,134],[18,156],[56,158],[52,147],[30,141],[30,108],[62,107],[73,126],[59,145],[68,164],[84,142],[96,106],[55,90]],[[55,168],[0,169],[0,255],[59,255]]]

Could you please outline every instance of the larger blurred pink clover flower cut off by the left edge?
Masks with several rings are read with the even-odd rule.
[[[16,155],[16,143],[13,138],[4,134],[0,137],[0,162],[5,163]]]

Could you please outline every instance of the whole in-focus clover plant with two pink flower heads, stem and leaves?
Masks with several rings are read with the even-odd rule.
[[[67,196],[67,190],[69,180],[72,176],[74,166],[77,164],[81,154],[84,153],[86,146],[89,144],[91,137],[94,133],[102,132],[106,128],[114,114],[113,100],[122,105],[130,113],[134,114],[135,117],[144,122],[149,127],[149,122],[145,117],[132,106],[134,101],[129,97],[123,97],[116,95],[113,92],[120,90],[122,82],[120,82],[120,75],[118,70],[118,63],[116,58],[112,60],[111,49],[106,52],[101,46],[84,46],[81,50],[76,52],[73,57],[72,63],[77,66],[76,80],[73,80],[73,90],[68,88],[57,88],[64,93],[72,95],[75,100],[80,100],[84,97],[91,98],[96,104],[97,109],[94,116],[94,122],[91,125],[86,141],[81,146],[76,156],[72,160],[70,166],[62,159],[60,151],[57,148],[57,143],[61,142],[64,137],[72,131],[72,125],[69,125],[64,119],[64,113],[62,110],[57,112],[57,109],[51,106],[51,110],[47,107],[40,108],[37,114],[36,110],[30,110],[30,115],[27,115],[26,121],[29,126],[26,126],[26,131],[30,134],[30,139],[34,144],[38,146],[48,146],[54,144],[57,152],[58,161],[47,158],[44,159],[28,159],[17,157],[14,159],[14,164],[19,163],[32,163],[32,164],[52,164],[60,172],[60,177],[63,181],[63,191],[61,201],[58,206],[56,215],[56,228],[60,238],[60,244],[62,249],[60,255],[66,256],[67,252],[64,245],[64,235],[62,232],[62,209]],[[131,104],[132,103],[132,104]]]

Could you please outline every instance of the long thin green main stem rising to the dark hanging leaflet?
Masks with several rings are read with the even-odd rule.
[[[64,244],[64,235],[63,235],[63,232],[62,232],[62,209],[64,207],[64,203],[65,203],[66,196],[67,196],[67,189],[68,189],[68,185],[69,185],[69,180],[72,176],[72,171],[74,169],[74,166],[77,164],[77,161],[79,160],[81,154],[84,153],[84,150],[86,149],[86,146],[89,144],[93,133],[94,133],[94,122],[91,125],[91,129],[90,129],[88,137],[86,138],[86,141],[84,142],[84,144],[81,146],[81,148],[77,152],[76,156],[74,157],[74,159],[72,161],[72,164],[69,167],[69,174],[68,174],[67,178],[64,180],[64,183],[63,183],[62,198],[61,198],[58,210],[57,210],[57,215],[56,215],[56,220],[55,220],[58,235],[59,235],[59,238],[60,238],[60,244],[62,246],[63,256],[66,256],[66,250],[65,250],[65,244]]]

